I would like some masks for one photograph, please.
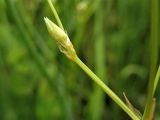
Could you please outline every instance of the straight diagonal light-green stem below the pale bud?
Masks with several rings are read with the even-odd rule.
[[[90,76],[94,82],[100,88],[102,88],[111,99],[116,102],[133,120],[139,120],[139,118],[125,105],[125,103],[108,87],[102,82],[102,80],[97,77],[78,57],[74,61],[85,71],[85,73]]]

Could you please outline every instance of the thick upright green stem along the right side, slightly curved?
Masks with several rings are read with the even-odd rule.
[[[154,78],[158,58],[158,0],[151,0],[151,66],[148,86],[148,97],[142,120],[146,120],[150,114],[152,99],[154,96]]]

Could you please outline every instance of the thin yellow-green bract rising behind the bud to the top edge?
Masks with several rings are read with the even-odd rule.
[[[51,0],[48,0],[48,3],[49,3],[49,6],[51,7],[51,10],[52,10],[52,12],[53,12],[53,14],[54,14],[54,16],[55,16],[55,18],[56,18],[56,21],[57,21],[59,27],[64,30],[64,27],[63,27],[63,25],[62,25],[62,22],[61,22],[58,14],[57,14],[57,11],[56,11],[55,7],[54,7],[53,4],[52,4],[52,1],[51,1]]]

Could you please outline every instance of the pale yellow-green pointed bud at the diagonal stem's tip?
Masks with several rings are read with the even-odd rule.
[[[77,55],[68,35],[48,18],[44,18],[44,21],[46,23],[48,32],[56,40],[60,51],[69,59],[74,60]]]

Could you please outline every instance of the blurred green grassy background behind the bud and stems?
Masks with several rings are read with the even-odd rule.
[[[143,113],[154,59],[150,51],[156,47],[150,47],[150,1],[53,3],[82,61],[124,101],[125,92]],[[0,0],[0,120],[129,120],[59,52],[44,17],[55,21],[47,0]],[[159,56],[155,59],[159,63]]]

